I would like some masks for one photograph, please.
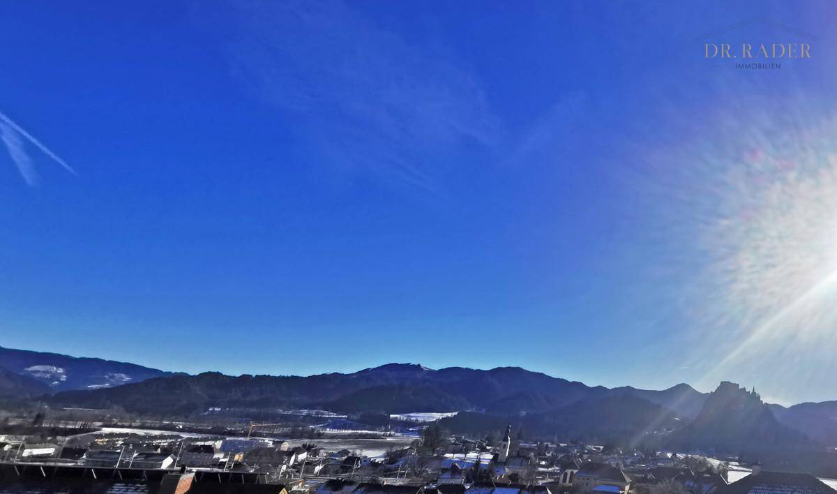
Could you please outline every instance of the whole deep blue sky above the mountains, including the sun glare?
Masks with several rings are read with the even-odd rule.
[[[833,296],[806,295],[837,263],[834,13],[9,5],[0,344],[837,399]],[[706,39],[813,56],[735,69]]]

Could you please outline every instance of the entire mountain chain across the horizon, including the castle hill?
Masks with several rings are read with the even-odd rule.
[[[684,383],[664,390],[608,389],[523,368],[434,370],[409,363],[307,377],[187,375],[8,348],[0,348],[0,366],[6,368],[0,372],[0,398],[39,397],[53,406],[121,407],[146,415],[197,416],[209,409],[239,416],[285,409],[460,411],[442,419],[442,425],[482,434],[511,423],[542,438],[727,452],[752,445],[804,448],[837,442],[837,402],[784,408],[726,382],[712,393]]]

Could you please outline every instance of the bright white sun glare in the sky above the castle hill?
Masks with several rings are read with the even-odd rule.
[[[699,273],[686,340],[701,388],[732,380],[781,402],[833,398],[837,121],[822,113],[742,103],[650,155],[656,171],[668,167],[655,180],[671,250]]]

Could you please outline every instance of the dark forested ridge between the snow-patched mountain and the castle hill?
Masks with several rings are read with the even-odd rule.
[[[553,378],[523,368],[424,368],[391,363],[356,373],[298,376],[196,376],[150,378],[112,389],[55,394],[55,404],[87,408],[121,406],[136,413],[179,414],[207,409],[327,409],[341,413],[472,410],[506,416],[537,414],[594,399],[636,397],[691,418],[704,394],[687,385],[662,391],[607,389]]]

